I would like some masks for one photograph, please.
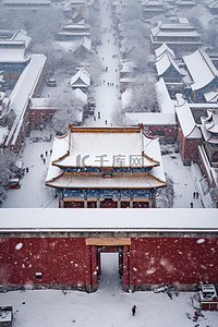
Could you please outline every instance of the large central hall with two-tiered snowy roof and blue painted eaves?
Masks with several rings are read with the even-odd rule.
[[[166,185],[159,140],[135,128],[74,128],[56,137],[46,185],[60,207],[154,207]]]

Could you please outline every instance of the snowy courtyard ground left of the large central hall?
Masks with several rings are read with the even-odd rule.
[[[40,137],[44,132],[38,131],[37,134]],[[55,191],[45,185],[52,144],[52,141],[34,143],[26,137],[20,159],[25,168],[28,167],[28,172],[22,179],[21,189],[8,190],[4,208],[58,208]],[[41,154],[46,159],[45,164],[40,158]]]

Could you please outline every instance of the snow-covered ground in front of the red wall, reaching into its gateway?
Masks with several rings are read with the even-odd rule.
[[[196,318],[197,293],[180,292],[172,300],[154,292],[124,293],[118,274],[118,254],[101,254],[102,275],[95,293],[26,290],[0,293],[1,305],[13,305],[14,327],[216,327],[218,312]],[[31,286],[26,287],[27,289]],[[194,299],[194,301],[192,301]],[[136,315],[131,308],[136,305]]]

